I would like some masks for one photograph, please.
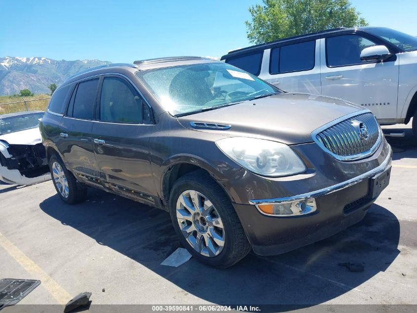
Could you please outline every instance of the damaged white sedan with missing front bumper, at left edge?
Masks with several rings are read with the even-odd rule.
[[[51,179],[39,133],[42,111],[0,115],[0,180],[30,185]]]

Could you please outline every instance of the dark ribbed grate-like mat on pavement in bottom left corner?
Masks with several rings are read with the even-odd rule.
[[[40,280],[10,279],[0,280],[0,310],[4,307],[13,306],[26,297],[40,284]]]

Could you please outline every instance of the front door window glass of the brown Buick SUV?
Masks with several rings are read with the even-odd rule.
[[[103,80],[100,97],[100,120],[142,124],[142,98],[131,84],[116,77],[106,77]]]

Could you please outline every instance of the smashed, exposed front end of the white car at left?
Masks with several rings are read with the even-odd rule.
[[[51,179],[42,143],[9,144],[0,141],[0,180],[30,185]]]

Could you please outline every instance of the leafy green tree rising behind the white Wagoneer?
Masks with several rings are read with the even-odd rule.
[[[281,38],[335,27],[366,26],[349,0],[263,0],[249,7],[246,21],[251,43],[262,44]]]

